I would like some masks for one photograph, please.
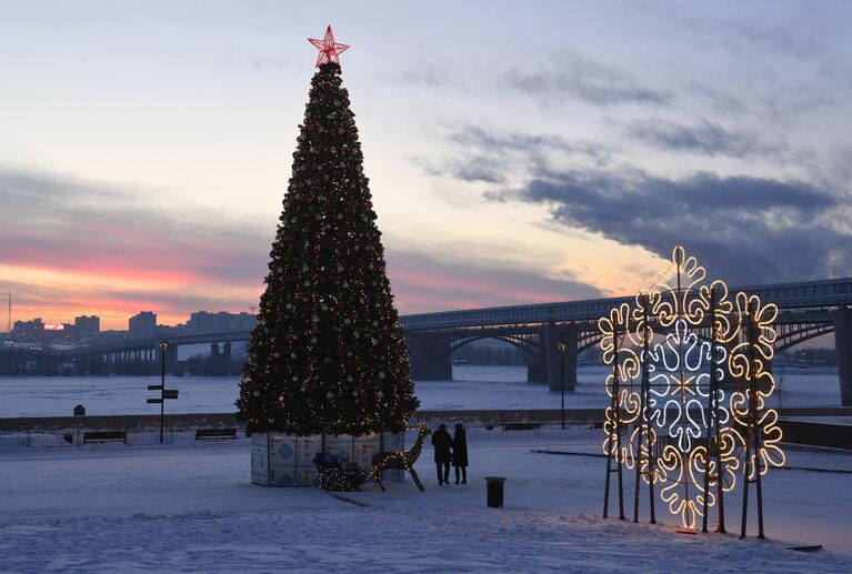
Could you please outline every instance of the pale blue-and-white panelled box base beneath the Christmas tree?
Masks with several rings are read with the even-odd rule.
[[[319,487],[320,477],[313,463],[317,453],[335,454],[370,473],[374,455],[382,451],[402,451],[404,447],[404,433],[363,436],[252,433],[251,482],[261,486]],[[403,477],[402,471],[390,470],[384,472],[383,480],[401,482]],[[369,482],[367,484],[370,486]]]

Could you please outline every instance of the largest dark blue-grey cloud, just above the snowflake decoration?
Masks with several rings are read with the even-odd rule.
[[[829,223],[841,200],[804,182],[587,169],[541,172],[520,190],[488,197],[549,205],[558,222],[662,256],[682,244],[734,283],[852,272],[852,234]]]

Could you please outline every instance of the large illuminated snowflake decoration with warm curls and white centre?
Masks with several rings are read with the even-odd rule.
[[[650,492],[659,486],[685,527],[714,505],[723,516],[738,476],[784,464],[778,413],[766,407],[776,315],[756,296],[730,296],[678,246],[650,290],[598,321],[612,366],[603,452]]]

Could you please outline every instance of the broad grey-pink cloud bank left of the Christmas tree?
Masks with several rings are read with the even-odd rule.
[[[47,172],[0,168],[0,197],[6,264],[242,283],[263,276],[274,234],[219,211],[158,208],[147,190]]]

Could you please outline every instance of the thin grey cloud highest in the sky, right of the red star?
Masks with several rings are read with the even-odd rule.
[[[551,107],[574,99],[601,108],[621,104],[665,105],[674,95],[643,84],[630,73],[575,52],[553,54],[538,71],[514,70],[503,83]]]

